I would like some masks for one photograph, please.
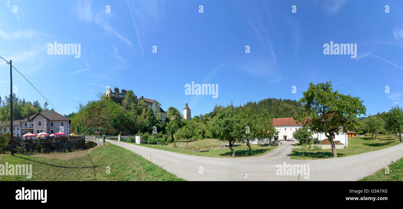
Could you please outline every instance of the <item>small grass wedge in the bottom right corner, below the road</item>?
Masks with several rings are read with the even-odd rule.
[[[376,173],[361,178],[359,181],[403,181],[403,158],[391,163],[389,173],[385,174],[385,168],[378,170]]]

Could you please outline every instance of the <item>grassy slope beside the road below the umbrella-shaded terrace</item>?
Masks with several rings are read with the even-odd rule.
[[[108,144],[72,153],[15,156],[1,154],[0,164],[32,164],[32,178],[0,176],[3,181],[183,181],[123,147]],[[110,174],[106,174],[106,167]]]

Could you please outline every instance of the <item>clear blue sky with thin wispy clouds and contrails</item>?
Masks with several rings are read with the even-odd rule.
[[[182,111],[188,102],[193,117],[231,101],[298,100],[310,82],[330,80],[341,93],[364,99],[367,115],[376,114],[403,105],[403,3],[362,2],[5,0],[0,56],[63,114],[97,99],[106,86],[156,99],[164,110]],[[54,41],[80,43],[81,57],[48,55]],[[324,55],[330,41],[357,43],[357,57]],[[13,78],[18,97],[45,103],[15,71]],[[218,84],[218,98],[185,95],[192,81]],[[9,82],[9,66],[0,62],[2,98]]]

